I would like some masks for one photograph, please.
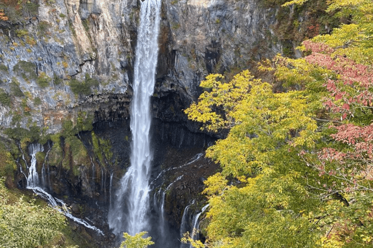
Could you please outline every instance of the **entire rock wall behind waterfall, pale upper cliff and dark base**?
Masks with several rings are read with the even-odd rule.
[[[0,21],[0,135],[13,140],[18,166],[7,185],[25,189],[28,147],[41,143],[36,167],[43,187],[105,233],[71,223],[93,247],[114,247],[119,239],[107,212],[130,164],[140,1],[30,2],[34,7],[21,12],[5,7],[9,19]],[[183,113],[202,92],[200,81],[282,52],[273,38],[276,9],[261,2],[162,1],[150,211],[167,222],[167,232],[179,235],[193,200],[193,211],[201,210],[203,180],[218,170],[204,157],[195,159],[218,137],[201,133]]]

